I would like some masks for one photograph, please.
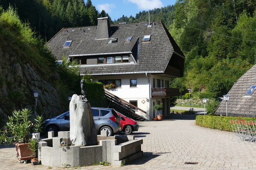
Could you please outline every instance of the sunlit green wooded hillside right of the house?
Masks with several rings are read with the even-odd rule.
[[[256,63],[254,0],[178,0],[169,31],[186,55],[172,87],[203,97],[226,94]]]

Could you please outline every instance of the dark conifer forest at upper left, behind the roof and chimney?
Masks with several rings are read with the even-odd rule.
[[[12,6],[23,22],[30,24],[41,38],[49,40],[63,27],[96,25],[99,13],[91,0],[0,0],[4,9]]]

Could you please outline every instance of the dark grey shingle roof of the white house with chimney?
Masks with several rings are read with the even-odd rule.
[[[111,25],[111,37],[118,38],[116,43],[108,44],[107,39],[96,40],[97,26],[63,28],[48,45],[57,60],[70,55],[103,54],[132,51],[139,38],[139,56],[137,64],[85,65],[80,67],[81,74],[126,74],[153,72],[163,73],[172,51],[184,56],[168,30],[161,21],[148,23],[126,23]],[[144,35],[151,35],[150,42],[143,42]],[[131,42],[125,42],[132,37]],[[73,40],[69,48],[63,48],[64,42]]]

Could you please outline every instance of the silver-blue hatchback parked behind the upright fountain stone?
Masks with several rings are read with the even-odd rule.
[[[119,125],[120,117],[114,109],[111,108],[94,108],[92,107],[93,120],[98,134],[101,130],[106,130],[108,136],[119,132],[121,127]],[[58,135],[58,131],[70,130],[70,112],[67,111],[59,116],[51,119],[46,119],[44,122],[45,131],[54,131],[54,136]]]

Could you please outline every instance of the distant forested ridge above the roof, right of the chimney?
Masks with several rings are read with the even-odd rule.
[[[161,20],[166,26],[169,26],[173,23],[174,19],[174,6],[165,6],[163,8],[156,8],[149,10],[150,20],[157,21]],[[135,23],[148,21],[148,11],[140,11],[136,14],[135,17],[122,16],[118,18],[114,23]]]

